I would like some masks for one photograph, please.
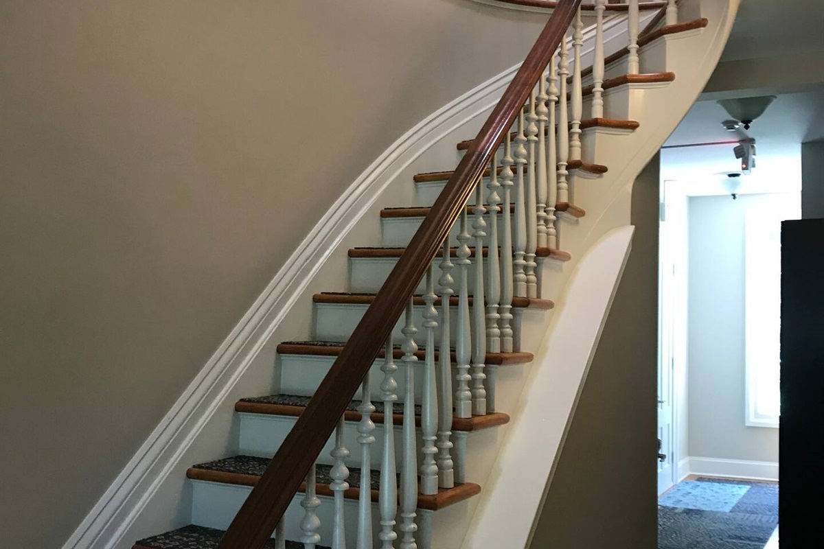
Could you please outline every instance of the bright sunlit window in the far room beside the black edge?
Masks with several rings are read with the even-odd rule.
[[[800,208],[749,215],[745,233],[747,426],[777,427],[780,412],[781,221]]]

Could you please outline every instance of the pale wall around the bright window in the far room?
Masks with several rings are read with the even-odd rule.
[[[744,423],[744,223],[799,193],[689,198],[689,454],[778,462],[778,430]],[[780,258],[765,258],[779,261]]]

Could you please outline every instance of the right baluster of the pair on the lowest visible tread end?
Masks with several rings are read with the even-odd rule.
[[[455,464],[452,462],[452,356],[450,356],[449,336],[449,298],[455,293],[452,286],[452,261],[449,255],[449,235],[443,241],[441,277],[438,286],[441,289],[441,351],[438,353],[438,485],[442,488],[455,486]]]

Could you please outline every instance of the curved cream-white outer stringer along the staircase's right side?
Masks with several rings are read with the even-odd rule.
[[[451,528],[435,528],[437,542],[433,547],[528,547],[597,336],[620,280],[622,247],[629,252],[634,179],[700,95],[727,42],[739,2],[684,2],[686,9],[706,17],[709,25],[700,35],[672,41],[674,47],[667,55],[672,54],[676,80],[645,90],[643,102],[630,105],[632,118],[640,122],[633,135],[621,136],[623,141],[614,145],[599,146],[597,161],[610,166],[607,174],[599,179],[577,178],[574,203],[585,206],[587,216],[578,220],[565,217],[559,234],[563,249],[581,259],[572,265],[569,277],[551,264],[542,269],[541,295],[555,296],[557,305],[545,322],[522,322],[522,349],[536,352],[521,400],[516,409],[507,410],[513,419],[501,437],[501,451],[489,468],[489,476],[472,479],[484,486],[484,491],[471,502],[471,509],[466,509],[471,523],[467,528],[455,528],[455,523]],[[634,152],[628,155],[627,151]],[[564,230],[568,223],[574,223],[574,230]],[[602,269],[600,275],[593,271],[596,266]],[[598,284],[592,281],[595,275]],[[581,307],[592,310],[578,310]]]

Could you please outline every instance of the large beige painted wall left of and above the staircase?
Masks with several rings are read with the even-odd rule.
[[[60,547],[335,198],[545,16],[6,0],[0,22],[0,532]]]

